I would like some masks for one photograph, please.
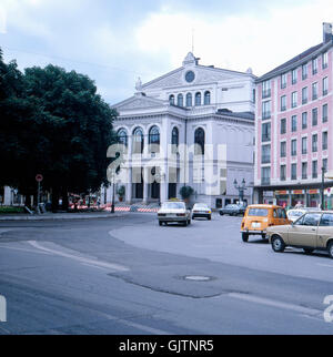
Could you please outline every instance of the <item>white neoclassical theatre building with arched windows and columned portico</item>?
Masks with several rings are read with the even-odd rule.
[[[250,203],[254,81],[251,69],[201,65],[192,52],[176,70],[145,84],[139,79],[135,94],[113,105],[119,113],[114,130],[128,150],[114,180],[125,187],[125,202],[163,202],[180,197],[180,188],[189,185],[193,201],[221,207],[239,201],[234,182],[244,181]]]

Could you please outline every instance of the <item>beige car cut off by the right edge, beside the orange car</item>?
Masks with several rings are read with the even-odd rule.
[[[305,254],[326,251],[333,258],[333,212],[307,212],[292,224],[269,227],[268,236],[274,252],[293,246],[303,248]]]

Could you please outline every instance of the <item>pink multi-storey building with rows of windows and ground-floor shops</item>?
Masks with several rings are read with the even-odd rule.
[[[255,202],[321,203],[322,167],[333,170],[332,71],[332,26],[324,23],[322,43],[256,80]],[[333,182],[324,185],[332,207]]]

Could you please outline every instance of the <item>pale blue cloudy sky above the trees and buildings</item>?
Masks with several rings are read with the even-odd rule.
[[[260,76],[322,42],[322,22],[332,0],[0,0],[0,48],[21,70],[89,75],[112,105],[192,47],[201,64]]]

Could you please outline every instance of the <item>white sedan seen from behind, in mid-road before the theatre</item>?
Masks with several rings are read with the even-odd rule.
[[[159,224],[168,225],[170,222],[182,223],[184,226],[191,224],[191,210],[188,210],[182,201],[167,201],[162,203],[158,212]]]

